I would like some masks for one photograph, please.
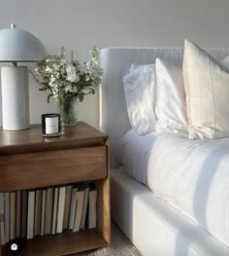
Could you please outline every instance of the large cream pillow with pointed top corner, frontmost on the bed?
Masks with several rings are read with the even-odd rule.
[[[229,136],[229,74],[213,56],[187,40],[183,80],[189,138]]]

